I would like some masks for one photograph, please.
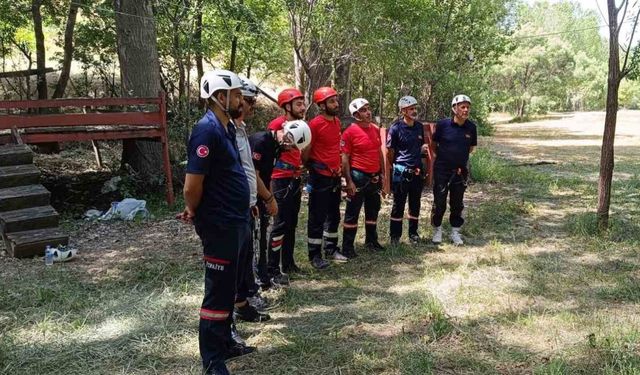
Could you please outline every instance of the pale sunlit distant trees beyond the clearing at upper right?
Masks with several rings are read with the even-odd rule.
[[[604,107],[606,41],[593,11],[563,1],[522,4],[509,53],[491,69],[492,108],[529,113]]]

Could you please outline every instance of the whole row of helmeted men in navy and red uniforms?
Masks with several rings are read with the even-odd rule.
[[[245,120],[253,115],[260,90],[249,79],[227,70],[205,73],[200,97],[207,111],[194,126],[188,144],[184,198],[180,219],[193,223],[203,245],[205,296],[200,309],[199,345],[206,374],[226,375],[225,361],[251,353],[235,321],[264,322],[268,301],[260,290],[289,284],[300,271],[294,260],[296,227],[302,192],[308,193],[307,249],[317,270],[330,261],[357,256],[355,239],[362,206],[364,249],[384,251],[377,231],[385,176],[392,179],[389,223],[391,246],[402,235],[408,200],[408,239],[418,244],[420,198],[426,179],[423,158],[436,155],[433,169],[432,242],[442,242],[442,220],[449,196],[450,239],[462,245],[460,228],[467,185],[469,154],[477,144],[469,120],[471,100],[456,95],[453,116],[437,122],[435,150],[425,142],[417,120],[417,100],[404,96],[400,116],[386,140],[372,121],[369,102],[349,104],[353,123],[342,130],[338,92],[321,87],[313,93],[320,114],[308,123],[307,104],[294,88],[281,91],[283,114],[266,130],[248,135]],[[382,142],[390,173],[383,173]],[[303,171],[308,171],[306,186]],[[340,203],[346,193],[342,247],[338,245]],[[254,257],[255,254],[255,257]]]

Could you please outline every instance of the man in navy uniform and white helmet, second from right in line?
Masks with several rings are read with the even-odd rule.
[[[393,165],[393,206],[389,223],[389,238],[397,244],[402,235],[404,206],[409,200],[409,240],[420,242],[418,217],[420,197],[424,187],[425,171],[422,155],[427,151],[424,143],[424,127],[418,118],[418,101],[413,96],[403,96],[398,101],[402,118],[396,121],[387,134],[387,157]]]

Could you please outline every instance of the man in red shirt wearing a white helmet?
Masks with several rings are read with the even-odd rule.
[[[364,203],[365,247],[384,250],[378,242],[378,212],[380,211],[380,188],[382,182],[382,145],[380,128],[371,123],[369,102],[363,98],[349,104],[349,112],[356,119],[344,133],[342,151],[342,174],[347,181],[347,208],[342,232],[342,253],[347,258],[357,256],[354,241],[358,231],[358,216]]]

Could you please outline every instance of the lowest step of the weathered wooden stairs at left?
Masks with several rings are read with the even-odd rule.
[[[5,245],[9,256],[28,258],[43,256],[47,245],[67,245],[69,236],[60,228],[46,228],[5,234]]]

